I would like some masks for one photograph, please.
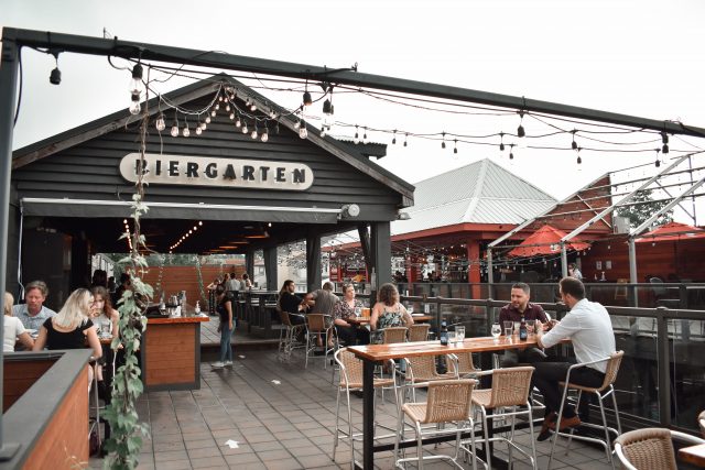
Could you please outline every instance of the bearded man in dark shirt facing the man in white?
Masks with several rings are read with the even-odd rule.
[[[521,321],[523,317],[527,323],[549,321],[546,314],[540,305],[531,304],[531,288],[525,283],[516,283],[511,286],[511,303],[502,307],[499,311],[499,325],[505,329],[505,321]],[[502,357],[502,368],[513,368],[520,362],[540,362],[546,354],[538,348],[527,348],[523,350],[508,349]]]

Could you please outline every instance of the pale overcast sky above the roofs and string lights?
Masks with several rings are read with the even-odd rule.
[[[91,36],[101,36],[105,28],[111,36],[130,41],[332,68],[357,63],[359,72],[370,74],[698,127],[705,127],[703,19],[705,2],[699,0],[3,0],[0,9],[3,26]],[[24,90],[14,149],[129,103],[129,76],[110,67],[104,57],[63,54],[58,87],[48,84],[53,57],[24,51],[22,59]],[[172,80],[160,90],[187,83]],[[284,95],[271,94],[284,106],[295,107],[301,100],[299,92]],[[519,121],[517,116],[414,110],[359,94],[336,95],[334,103],[341,122],[415,133],[516,132]],[[319,110],[311,112],[319,114]],[[535,121],[524,123],[529,134],[546,132]],[[352,132],[334,130],[348,136]],[[371,133],[370,139],[390,143],[391,138]],[[570,146],[570,136],[561,139],[561,145]],[[672,141],[672,149],[705,147],[702,139]],[[657,144],[646,145],[652,146]],[[414,183],[489,156],[549,194],[564,197],[608,170],[655,160],[651,152],[585,152],[578,171],[575,152],[568,150],[524,150],[510,165],[496,147],[459,145],[458,154],[449,149],[442,150],[438,142],[410,140],[405,149],[399,143],[390,145],[389,156],[380,164]]]

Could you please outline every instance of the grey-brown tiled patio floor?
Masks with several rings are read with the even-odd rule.
[[[348,469],[347,441],[338,445],[336,461],[330,459],[336,406],[330,367],[324,370],[322,361],[316,361],[304,369],[303,359],[296,357],[282,363],[274,350],[247,351],[245,359],[238,356],[236,345],[231,369],[210,370],[208,363],[202,363],[200,390],[148,393],[140,398],[140,418],[150,424],[152,436],[145,439],[139,469]],[[362,401],[357,396],[351,401],[359,429]],[[378,404],[377,409],[381,424],[395,425],[391,402]],[[528,431],[518,433],[520,442],[528,444]],[[238,447],[231,449],[228,440],[237,441]],[[361,447],[356,442],[356,453]],[[451,445],[425,449],[453,451]],[[546,468],[550,449],[550,441],[536,442],[539,468]],[[376,468],[393,468],[391,453],[377,453]],[[408,456],[414,453],[413,448],[408,451]],[[497,445],[496,455],[506,459],[506,446]],[[94,458],[89,464],[98,469],[102,461]],[[449,468],[445,462],[424,467]],[[465,467],[470,468],[469,463]],[[524,468],[530,466],[516,461],[514,469]],[[558,449],[553,468],[607,470],[611,466],[599,449],[573,442],[567,456],[563,447]]]

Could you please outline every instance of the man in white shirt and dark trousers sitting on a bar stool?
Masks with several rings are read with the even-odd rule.
[[[615,352],[615,334],[609,314],[600,304],[585,298],[585,286],[575,277],[564,277],[560,283],[561,298],[571,308],[562,321],[552,320],[553,329],[547,334],[539,332],[539,346],[551,348],[561,340],[570,338],[575,351],[573,362],[539,362],[533,364],[533,384],[541,391],[546,406],[539,440],[550,437],[549,429],[555,429],[556,413],[561,407],[562,387],[567,370],[573,363],[592,362],[609,357]],[[571,383],[598,387],[605,381],[607,362],[579,368],[571,373]],[[573,406],[563,408],[561,429],[581,425],[581,418]]]

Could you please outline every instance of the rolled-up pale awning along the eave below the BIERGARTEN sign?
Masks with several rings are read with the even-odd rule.
[[[20,199],[24,216],[116,217],[131,216],[131,203],[99,199]],[[145,219],[241,220],[261,222],[336,223],[340,209],[318,207],[229,206],[217,204],[147,203]]]

